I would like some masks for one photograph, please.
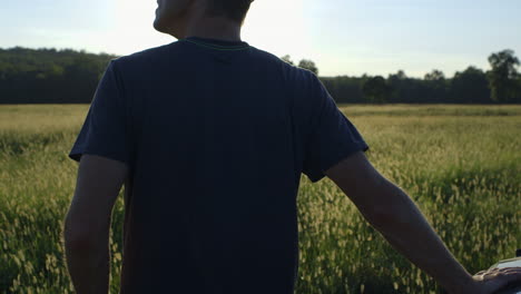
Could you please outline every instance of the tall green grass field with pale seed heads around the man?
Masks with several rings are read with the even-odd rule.
[[[73,293],[62,227],[78,164],[67,155],[88,107],[0,106],[1,294]],[[370,145],[373,165],[415,200],[471,274],[513,257],[521,247],[521,106],[338,107]],[[110,238],[116,294],[122,204],[121,189]],[[298,209],[296,293],[444,293],[328,178],[312,185],[302,176]]]

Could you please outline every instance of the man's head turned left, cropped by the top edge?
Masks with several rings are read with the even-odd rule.
[[[185,38],[194,26],[205,26],[206,20],[217,20],[242,27],[253,0],[157,0],[157,31]],[[226,26],[225,26],[226,27]],[[217,28],[208,28],[216,30]]]

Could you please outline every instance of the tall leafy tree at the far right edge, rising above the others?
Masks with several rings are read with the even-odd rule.
[[[489,57],[492,70],[488,72],[492,100],[497,102],[512,102],[518,94],[517,67],[520,65],[514,51],[505,49]]]

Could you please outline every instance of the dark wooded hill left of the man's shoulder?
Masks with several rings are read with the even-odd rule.
[[[0,104],[88,104],[111,55],[0,49]]]

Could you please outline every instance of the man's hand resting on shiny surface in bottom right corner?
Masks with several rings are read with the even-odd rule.
[[[466,293],[492,294],[510,283],[521,284],[521,267],[481,271],[472,276],[474,284]],[[452,294],[452,293],[451,293]]]

